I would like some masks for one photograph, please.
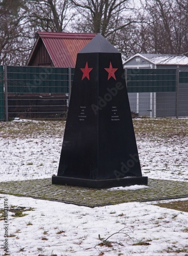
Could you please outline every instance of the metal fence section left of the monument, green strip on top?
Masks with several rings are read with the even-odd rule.
[[[66,117],[74,69],[4,67],[5,119]]]

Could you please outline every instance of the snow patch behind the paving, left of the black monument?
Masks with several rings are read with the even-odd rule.
[[[57,174],[62,139],[1,139],[1,181],[49,178]]]

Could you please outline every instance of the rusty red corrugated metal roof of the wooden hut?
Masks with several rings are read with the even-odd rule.
[[[37,32],[55,67],[74,68],[77,53],[96,36],[96,33]]]

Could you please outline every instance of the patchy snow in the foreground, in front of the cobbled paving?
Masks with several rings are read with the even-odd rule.
[[[150,203],[124,203],[92,209],[32,198],[0,196],[8,199],[9,207],[34,208],[24,211],[28,214],[25,217],[15,218],[11,213],[8,218],[11,234],[8,247],[12,256],[187,255],[187,212],[160,208]],[[4,221],[1,222],[3,252],[5,229]],[[99,235],[110,243],[105,245]]]

